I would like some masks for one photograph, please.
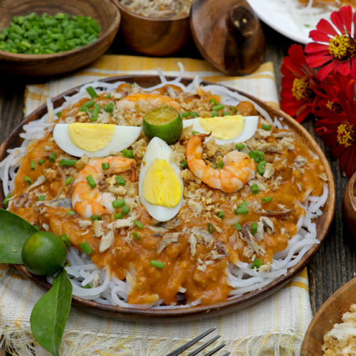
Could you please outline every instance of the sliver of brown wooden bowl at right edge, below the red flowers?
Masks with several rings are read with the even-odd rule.
[[[347,182],[344,199],[342,201],[342,216],[345,220],[347,231],[356,244],[356,173],[352,174]]]

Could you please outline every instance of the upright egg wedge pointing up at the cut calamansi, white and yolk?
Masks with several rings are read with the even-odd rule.
[[[157,221],[176,216],[183,201],[183,181],[172,150],[159,137],[153,137],[142,158],[138,189],[141,203]]]

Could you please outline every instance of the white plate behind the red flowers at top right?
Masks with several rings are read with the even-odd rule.
[[[247,0],[256,12],[256,15],[268,26],[271,26],[277,32],[300,43],[312,41],[309,38],[309,31],[313,30],[318,23],[314,21],[313,25],[303,26],[295,21],[295,16],[291,13],[288,1],[281,0]],[[324,17],[330,20],[332,11],[325,11]]]

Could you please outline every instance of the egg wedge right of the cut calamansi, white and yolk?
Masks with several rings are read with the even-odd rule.
[[[211,132],[209,139],[215,139],[218,145],[230,142],[244,142],[257,130],[258,116],[228,115],[223,117],[196,117],[183,120],[183,127],[193,125],[193,131]]]

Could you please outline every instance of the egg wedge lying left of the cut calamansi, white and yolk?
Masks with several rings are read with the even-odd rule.
[[[140,136],[142,127],[73,122],[57,124],[53,130],[56,144],[75,157],[106,157],[125,150]]]

